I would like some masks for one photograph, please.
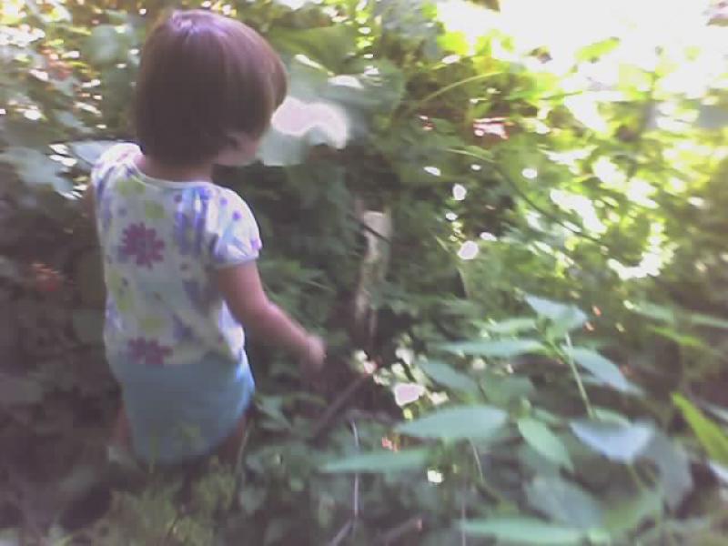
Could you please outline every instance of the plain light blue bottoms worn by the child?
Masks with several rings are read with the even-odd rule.
[[[215,450],[255,391],[245,351],[238,364],[217,355],[167,367],[108,360],[122,389],[134,453],[150,464],[187,462]]]

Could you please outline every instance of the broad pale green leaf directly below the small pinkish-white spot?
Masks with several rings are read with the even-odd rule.
[[[492,406],[453,406],[419,420],[402,423],[397,431],[418,438],[488,439],[505,424],[507,414]]]

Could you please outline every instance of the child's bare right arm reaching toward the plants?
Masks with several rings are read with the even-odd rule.
[[[247,329],[297,354],[305,371],[321,369],[326,358],[323,342],[268,299],[254,261],[218,269],[217,287],[233,316]]]

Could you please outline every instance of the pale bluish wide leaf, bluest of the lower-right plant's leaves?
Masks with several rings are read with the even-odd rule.
[[[594,420],[571,421],[571,431],[607,459],[629,463],[647,447],[654,429],[648,423],[622,424]]]

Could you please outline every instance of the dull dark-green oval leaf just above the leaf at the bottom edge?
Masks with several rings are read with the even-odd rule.
[[[602,507],[581,487],[558,476],[539,476],[526,487],[531,507],[552,520],[588,530],[602,525]]]

